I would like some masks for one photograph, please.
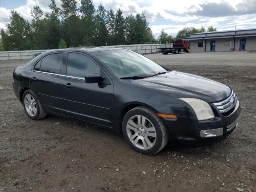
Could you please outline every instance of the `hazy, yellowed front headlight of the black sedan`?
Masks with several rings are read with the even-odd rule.
[[[180,99],[187,102],[193,108],[198,120],[208,120],[214,118],[212,108],[207,102],[195,98]]]

